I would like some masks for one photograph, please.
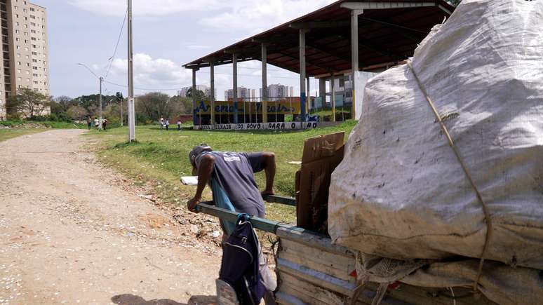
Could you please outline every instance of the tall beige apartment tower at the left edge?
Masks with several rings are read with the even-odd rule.
[[[25,0],[0,0],[0,22],[0,118],[4,119],[6,101],[21,88],[49,95],[46,8]]]

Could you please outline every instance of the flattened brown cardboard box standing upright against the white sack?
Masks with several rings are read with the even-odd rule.
[[[313,137],[304,142],[302,165],[296,172],[297,226],[328,234],[330,177],[343,160],[344,133]]]

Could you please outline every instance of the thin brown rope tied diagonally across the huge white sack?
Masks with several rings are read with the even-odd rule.
[[[408,67],[410,68],[411,72],[413,72],[413,76],[415,76],[415,81],[417,81],[417,84],[424,94],[424,97],[426,97],[426,100],[428,101],[428,104],[431,107],[431,110],[434,111],[434,115],[436,116],[436,121],[438,121],[439,125],[441,126],[441,130],[443,130],[443,133],[445,133],[445,136],[447,137],[447,140],[449,142],[449,146],[453,151],[455,152],[456,158],[460,165],[462,166],[462,170],[464,170],[464,174],[466,175],[469,184],[471,184],[471,188],[474,189],[475,195],[481,203],[481,207],[483,208],[483,213],[485,215],[485,223],[486,223],[486,236],[485,236],[485,245],[483,246],[483,252],[481,253],[481,259],[479,261],[479,266],[477,270],[477,277],[474,282],[474,292],[477,292],[478,290],[478,283],[479,280],[481,280],[481,275],[483,273],[483,264],[485,263],[485,256],[488,252],[488,246],[490,245],[490,239],[492,238],[492,218],[490,217],[490,211],[488,210],[488,206],[483,201],[483,197],[481,196],[481,193],[479,193],[474,180],[471,178],[471,175],[469,174],[469,170],[467,169],[466,164],[464,163],[464,160],[462,159],[462,156],[460,155],[460,151],[458,151],[455,142],[453,142],[453,138],[450,137],[450,133],[447,129],[447,126],[445,126],[445,123],[443,123],[443,120],[441,119],[441,116],[439,115],[436,107],[434,106],[434,102],[432,102],[430,96],[428,95],[427,91],[424,89],[424,86],[422,86],[422,83],[417,76],[417,73],[415,73],[415,69],[413,69],[413,65],[411,60],[408,60],[407,62]]]

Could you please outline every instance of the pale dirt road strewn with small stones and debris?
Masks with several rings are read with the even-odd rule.
[[[210,304],[219,255],[116,185],[81,133],[0,142],[0,304]]]

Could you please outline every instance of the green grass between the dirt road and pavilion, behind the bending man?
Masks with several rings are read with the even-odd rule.
[[[194,187],[180,184],[181,175],[191,175],[189,151],[197,144],[209,144],[215,151],[273,151],[276,154],[276,194],[294,196],[295,172],[300,165],[289,164],[301,161],[304,140],[309,137],[345,131],[345,137],[355,126],[347,121],[340,126],[317,128],[297,132],[241,132],[196,131],[174,128],[166,132],[156,126],[138,126],[138,142],[126,144],[128,130],[115,128],[105,133],[90,132],[87,135],[98,140],[98,156],[107,165],[121,170],[142,184],[152,181],[159,185],[159,196],[170,203],[185,204],[194,194]],[[256,175],[257,183],[264,187],[264,173]],[[208,194],[209,196],[209,194]],[[292,222],[294,208],[283,205],[267,205],[267,217]]]

